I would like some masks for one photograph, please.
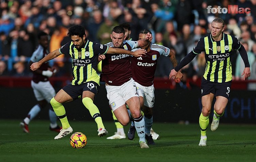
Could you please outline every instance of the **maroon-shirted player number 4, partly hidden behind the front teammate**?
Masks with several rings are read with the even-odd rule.
[[[147,33],[151,34],[151,32],[147,30],[140,31],[139,40],[144,39]],[[132,78],[134,79],[137,89],[139,91],[141,108],[144,112],[143,118],[145,120],[145,133],[146,133],[145,137],[146,137],[147,143],[155,144],[152,138],[150,129],[153,124],[152,109],[154,107],[154,102],[155,102],[155,94],[154,94],[155,88],[154,88],[153,82],[154,82],[154,75],[155,75],[156,66],[157,66],[157,60],[160,57],[160,55],[168,56],[170,57],[170,60],[174,67],[177,66],[177,60],[175,58],[175,54],[165,46],[158,45],[158,44],[151,44],[151,42],[148,42],[146,46],[141,48],[146,49],[147,54],[139,58],[136,58],[136,57],[131,58]],[[137,49],[134,49],[134,50],[137,50]],[[179,72],[176,77],[181,79],[182,74]],[[131,125],[127,135],[129,140],[133,140],[134,131],[135,131],[135,127]]]

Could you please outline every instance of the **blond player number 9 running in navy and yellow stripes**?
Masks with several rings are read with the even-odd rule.
[[[169,78],[177,75],[177,72],[193,60],[193,58],[205,52],[206,69],[202,77],[202,113],[199,117],[201,128],[201,139],[199,146],[206,146],[207,136],[206,129],[209,125],[209,114],[213,98],[216,98],[214,104],[214,114],[211,123],[211,130],[214,131],[219,126],[220,117],[223,116],[224,110],[228,103],[230,86],[232,81],[232,66],[230,55],[232,50],[238,50],[245,68],[242,75],[243,80],[251,75],[250,64],[246,50],[235,36],[223,33],[224,21],[216,18],[211,23],[211,33],[206,37],[200,38],[194,49],[181,60],[181,62],[171,70]]]

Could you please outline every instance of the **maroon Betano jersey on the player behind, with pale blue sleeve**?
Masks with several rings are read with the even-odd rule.
[[[169,48],[152,44],[150,51],[145,56],[132,57],[131,70],[133,80],[146,87],[153,85],[158,58],[160,55],[169,56],[169,54]]]

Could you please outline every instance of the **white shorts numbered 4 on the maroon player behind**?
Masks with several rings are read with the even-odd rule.
[[[155,87],[154,84],[148,87],[145,87],[137,82],[135,82],[139,95],[144,98],[144,106],[154,107],[155,103]]]

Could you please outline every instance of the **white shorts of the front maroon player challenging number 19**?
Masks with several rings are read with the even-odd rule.
[[[130,98],[139,97],[135,81],[132,78],[120,86],[106,85],[106,90],[109,105],[113,111],[124,105]]]

